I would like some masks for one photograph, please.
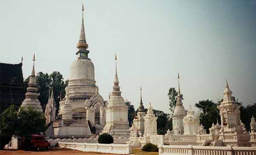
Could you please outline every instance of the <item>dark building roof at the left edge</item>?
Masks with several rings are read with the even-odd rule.
[[[12,104],[20,106],[25,99],[22,63],[0,63],[0,113]]]

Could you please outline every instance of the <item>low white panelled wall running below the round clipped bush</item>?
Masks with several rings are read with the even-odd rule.
[[[90,143],[66,143],[59,142],[60,147],[67,149],[76,149],[84,152],[102,152],[115,154],[130,154],[130,144],[90,144]]]

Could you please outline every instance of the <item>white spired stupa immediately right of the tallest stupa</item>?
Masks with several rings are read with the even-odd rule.
[[[116,57],[115,60],[117,60]],[[121,96],[116,69],[113,92],[108,101],[108,108],[106,108],[106,125],[102,133],[108,133],[113,138],[128,138],[130,137],[129,128],[128,107]]]

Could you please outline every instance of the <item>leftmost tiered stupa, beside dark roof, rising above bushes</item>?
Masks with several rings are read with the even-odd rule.
[[[38,100],[38,88],[35,79],[35,54],[33,58],[33,68],[29,78],[29,87],[25,94],[26,98],[22,102],[23,107],[32,106],[35,107],[39,112],[43,112],[40,101]]]

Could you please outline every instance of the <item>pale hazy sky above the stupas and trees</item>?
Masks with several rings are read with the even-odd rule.
[[[0,62],[59,71],[76,60],[81,0],[0,0]],[[223,98],[226,79],[244,105],[256,102],[256,0],[84,0],[89,58],[99,93],[112,91],[115,61],[122,97],[169,111],[169,88],[183,105]]]

